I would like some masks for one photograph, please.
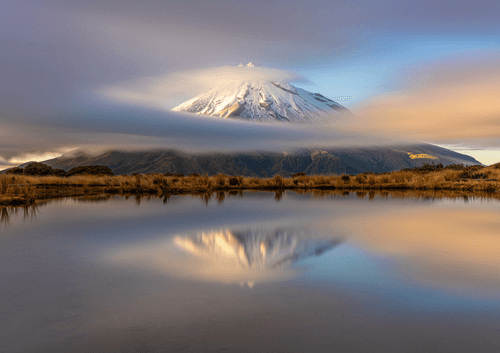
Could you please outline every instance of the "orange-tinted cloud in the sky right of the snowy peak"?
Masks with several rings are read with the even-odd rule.
[[[397,80],[354,108],[359,129],[429,141],[500,137],[499,54],[428,63]]]

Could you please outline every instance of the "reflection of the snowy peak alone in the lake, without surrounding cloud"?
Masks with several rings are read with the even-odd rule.
[[[322,254],[338,240],[311,239],[300,229],[218,230],[176,237],[175,243],[200,257],[232,259],[249,269],[271,269]]]

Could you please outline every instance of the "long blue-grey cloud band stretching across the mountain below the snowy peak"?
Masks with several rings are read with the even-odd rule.
[[[398,143],[397,139],[353,134],[341,127],[256,124],[98,101],[92,106],[73,111],[72,120],[62,116],[50,124],[44,120],[29,125],[6,123],[1,156],[9,160],[27,152],[43,154],[77,147],[93,152],[158,148],[237,152]]]

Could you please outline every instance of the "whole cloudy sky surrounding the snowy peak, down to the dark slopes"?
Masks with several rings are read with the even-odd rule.
[[[493,0],[4,0],[0,169],[78,147],[279,149],[328,133],[500,162],[498,18]],[[352,96],[354,117],[277,128],[164,109],[200,93],[195,74],[249,61],[326,97]],[[106,94],[132,86],[147,98],[155,82],[168,86],[157,107]]]

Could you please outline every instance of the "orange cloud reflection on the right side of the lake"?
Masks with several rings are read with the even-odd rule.
[[[497,208],[496,206],[494,206]],[[498,295],[500,221],[498,210],[417,209],[344,217],[351,242],[397,261],[412,282],[477,295]]]

